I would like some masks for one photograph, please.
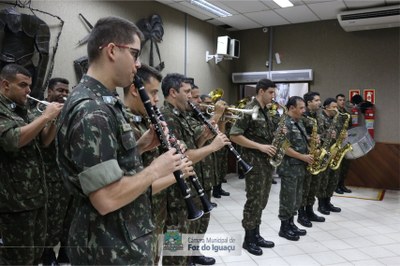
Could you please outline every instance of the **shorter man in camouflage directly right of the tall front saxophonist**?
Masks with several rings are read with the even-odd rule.
[[[306,111],[303,98],[292,96],[287,104],[285,126],[286,138],[290,147],[286,150],[277,173],[281,177],[279,193],[279,219],[281,227],[279,236],[288,240],[297,241],[299,236],[306,234],[306,230],[299,229],[294,224],[294,215],[302,201],[303,180],[306,174],[306,165],[313,162],[312,155],[308,154],[307,133],[302,123],[302,116]]]

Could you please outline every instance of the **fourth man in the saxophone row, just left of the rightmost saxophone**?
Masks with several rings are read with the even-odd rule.
[[[335,143],[338,131],[340,128],[339,115],[337,115],[337,103],[334,98],[327,98],[324,101],[324,124],[325,124],[325,135],[322,136],[322,142],[329,142],[328,149]],[[337,118],[334,119],[335,115]],[[336,121],[335,121],[336,120]],[[332,124],[335,123],[335,124]],[[332,128],[332,132],[329,132]],[[336,189],[339,176],[336,171],[328,168],[321,173],[321,183],[317,192],[318,197],[318,211],[322,214],[329,215],[330,212],[340,212],[341,209],[335,207],[331,203],[331,197]]]

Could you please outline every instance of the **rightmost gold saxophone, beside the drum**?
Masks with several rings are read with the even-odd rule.
[[[340,131],[340,135],[336,140],[335,144],[331,146],[330,152],[332,154],[331,161],[329,163],[329,167],[332,170],[337,170],[343,160],[343,157],[346,155],[348,151],[351,151],[353,147],[350,143],[347,143],[342,147],[342,143],[346,137],[347,128],[349,127],[350,115],[347,113],[340,113],[341,115],[346,116],[346,121],[343,124],[343,128]]]

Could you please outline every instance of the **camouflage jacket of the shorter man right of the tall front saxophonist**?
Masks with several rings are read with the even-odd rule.
[[[301,154],[306,154],[307,149],[307,133],[303,125],[302,120],[297,123],[290,116],[285,119],[285,126],[287,128],[286,137],[290,142],[290,148]],[[298,169],[293,168],[293,165],[306,165],[305,162],[285,155],[283,157],[282,163],[278,166],[277,172],[279,175],[288,176],[291,171],[298,171]]]

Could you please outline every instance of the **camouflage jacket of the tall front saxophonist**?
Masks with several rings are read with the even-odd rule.
[[[256,99],[248,103],[245,109],[253,109],[254,106],[259,106],[257,119],[253,120],[252,116],[245,114],[242,119],[237,119],[233,124],[230,135],[243,135],[249,140],[260,144],[271,144],[274,138],[274,131],[277,127],[275,115],[271,115],[268,108],[261,108]],[[242,147],[243,159],[250,164],[267,162],[267,154],[255,150]]]

